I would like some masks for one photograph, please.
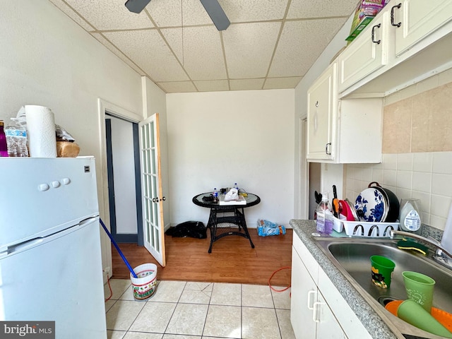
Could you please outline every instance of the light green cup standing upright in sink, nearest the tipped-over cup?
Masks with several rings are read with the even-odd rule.
[[[406,270],[402,273],[408,299],[420,304],[427,312],[432,311],[435,280],[427,275]]]

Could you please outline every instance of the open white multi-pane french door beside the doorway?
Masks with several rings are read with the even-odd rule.
[[[141,121],[138,126],[144,246],[161,266],[165,266],[165,223],[163,220],[165,196],[162,194],[158,113]]]

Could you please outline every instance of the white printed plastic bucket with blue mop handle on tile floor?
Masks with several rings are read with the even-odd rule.
[[[157,289],[157,266],[153,263],[143,263],[143,265],[133,268],[133,272],[138,277],[133,278],[130,273],[133,297],[138,300],[152,297]]]

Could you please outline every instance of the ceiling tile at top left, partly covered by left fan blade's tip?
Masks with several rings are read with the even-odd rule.
[[[75,11],[97,30],[130,30],[153,28],[145,11],[131,13],[124,0],[65,0]]]

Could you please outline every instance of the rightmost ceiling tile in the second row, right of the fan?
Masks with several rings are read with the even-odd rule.
[[[346,18],[287,21],[268,76],[304,76]]]

